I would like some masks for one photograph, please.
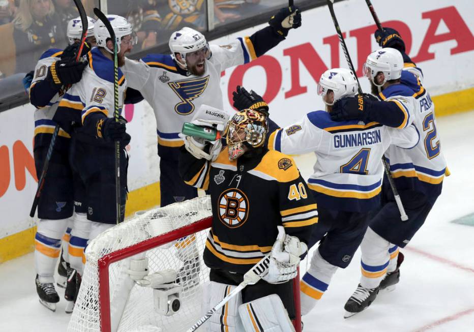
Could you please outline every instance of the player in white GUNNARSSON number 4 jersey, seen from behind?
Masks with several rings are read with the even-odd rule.
[[[324,72],[318,94],[327,111],[310,112],[269,140],[269,148],[282,153],[314,152],[317,157],[308,187],[318,204],[319,222],[309,246],[320,244],[301,281],[303,315],[314,308],[337,268],[350,263],[363,239],[369,212],[380,200],[383,153],[391,144],[411,148],[419,140],[413,126],[397,130],[376,122],[331,120],[334,102],[357,94],[357,81],[348,69]],[[413,107],[409,100],[401,103]]]

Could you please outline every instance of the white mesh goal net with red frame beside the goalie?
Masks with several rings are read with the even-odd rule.
[[[109,286],[112,327],[120,321],[118,331],[186,331],[202,315],[203,287],[209,281],[202,252],[211,216],[209,196],[199,197],[136,215],[95,238],[86,249],[82,283],[68,331],[101,330],[100,311],[104,305],[101,307],[100,297],[104,296],[104,285],[99,282],[99,269],[104,267],[100,267],[103,264],[99,260],[115,255],[119,260],[109,265],[109,278],[105,281]],[[189,225],[196,225],[198,231],[184,233],[182,227]],[[167,243],[143,249],[156,239]],[[181,285],[181,308],[177,313],[164,316],[155,311],[153,289],[134,284],[124,273],[130,259],[127,255],[145,255],[150,274],[165,269],[177,272],[176,283]],[[123,310],[122,302],[126,303]]]

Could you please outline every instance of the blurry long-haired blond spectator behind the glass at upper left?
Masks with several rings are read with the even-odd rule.
[[[20,0],[13,22],[17,73],[29,72],[44,51],[65,44],[66,27],[51,0]]]

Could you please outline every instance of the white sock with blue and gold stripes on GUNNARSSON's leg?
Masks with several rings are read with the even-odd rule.
[[[336,270],[337,266],[321,257],[319,249],[314,251],[311,266],[300,282],[302,315],[308,314],[316,306]]]

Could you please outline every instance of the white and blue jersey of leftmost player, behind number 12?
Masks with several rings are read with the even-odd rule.
[[[29,88],[29,94],[31,98],[31,102],[33,105],[37,107],[35,111],[35,147],[39,146],[47,146],[51,140],[51,134],[54,131],[54,127],[56,123],[52,120],[54,113],[56,112],[57,106],[64,96],[64,91],[61,89],[57,92],[51,99],[49,100],[40,100],[43,99],[45,92],[44,89],[51,90],[50,84],[46,84],[46,86],[41,86],[42,84],[38,84],[43,82],[46,76],[48,75],[49,67],[55,62],[60,60],[60,56],[63,53],[63,50],[60,49],[49,49],[44,52],[36,67],[35,67],[35,74],[33,77],[32,84]],[[46,83],[46,82],[45,82]],[[49,92],[49,91],[48,91]],[[46,92],[46,94],[48,93]],[[54,92],[53,92],[54,93]],[[41,96],[43,95],[43,96]],[[38,96],[38,98],[37,98]],[[71,136],[63,129],[60,129],[58,132],[58,136],[62,137],[63,139],[69,139]],[[63,144],[62,139],[58,139],[56,141],[57,145],[56,148],[62,147]]]

